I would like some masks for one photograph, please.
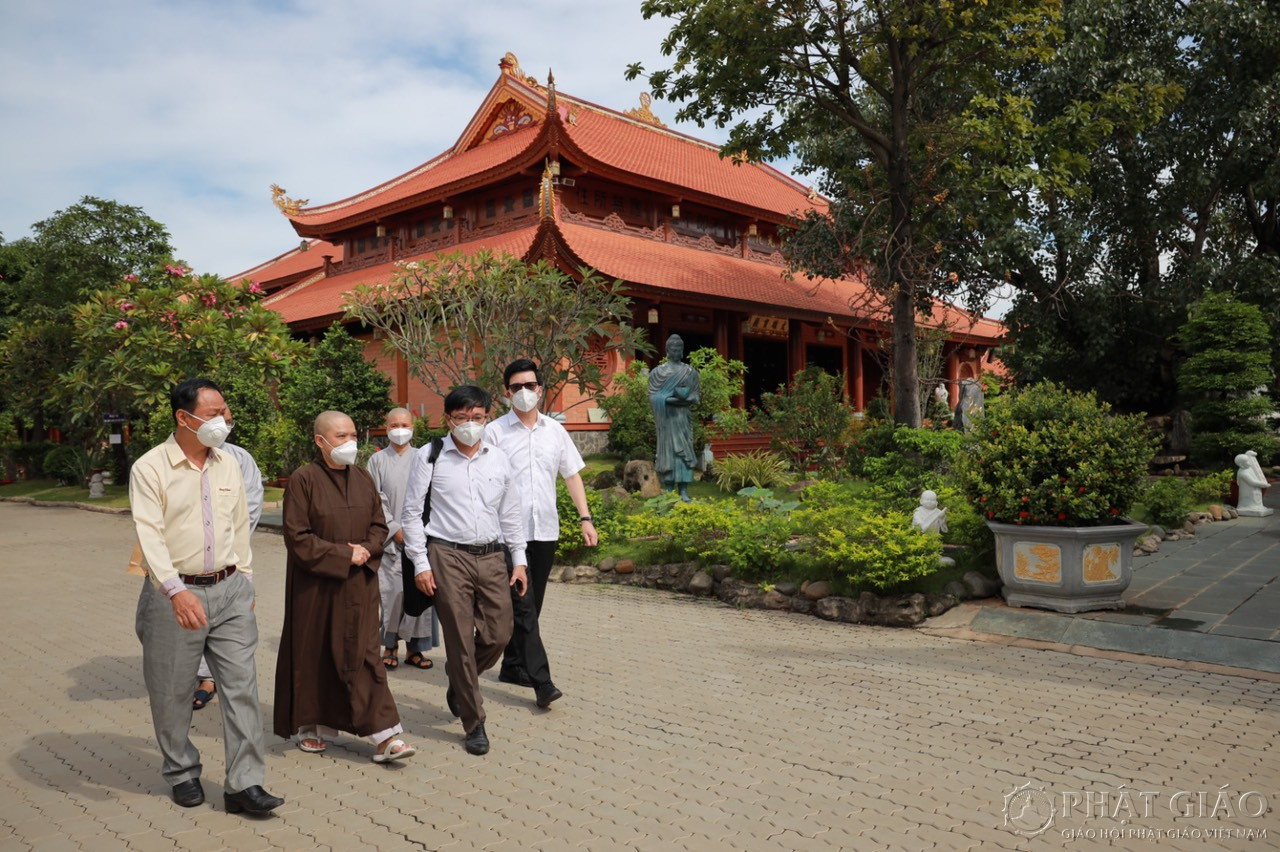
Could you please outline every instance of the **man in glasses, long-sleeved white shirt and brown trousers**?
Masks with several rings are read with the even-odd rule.
[[[445,701],[461,716],[472,755],[489,751],[480,673],[502,659],[511,638],[511,587],[524,594],[529,585],[520,489],[506,453],[483,440],[492,404],[474,385],[444,398],[449,435],[434,464],[429,452],[415,457],[401,516],[417,587],[435,596],[449,677]],[[504,541],[515,565],[509,578]]]

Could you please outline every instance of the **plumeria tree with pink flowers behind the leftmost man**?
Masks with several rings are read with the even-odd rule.
[[[73,311],[74,358],[59,402],[73,421],[102,431],[104,417],[123,418],[150,444],[172,427],[169,390],[187,376],[216,381],[225,366],[273,385],[302,344],[261,298],[256,283],[197,275],[177,261],[122,276]]]

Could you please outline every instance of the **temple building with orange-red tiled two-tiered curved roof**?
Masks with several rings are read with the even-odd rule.
[[[266,304],[306,335],[340,321],[344,296],[389,280],[399,261],[480,249],[545,258],[575,278],[589,267],[622,280],[658,357],[677,333],[686,352],[716,347],[745,362],[745,404],[806,365],[844,374],[859,411],[882,393],[887,313],[851,278],[787,275],[780,228],[824,210],[817,192],[667,128],[648,95],[616,111],[539,83],[512,54],[499,68],[457,143],[416,169],[319,206],[273,187],[302,243],[236,278],[262,285]],[[942,374],[954,404],[959,380],[982,372],[1004,326],[945,304],[934,322],[947,329]],[[439,412],[402,358],[371,335],[366,345],[399,403]],[[571,430],[607,429],[591,400],[559,402]]]

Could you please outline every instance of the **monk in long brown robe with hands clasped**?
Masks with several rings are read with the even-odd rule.
[[[284,628],[275,664],[275,733],[321,752],[325,737],[369,737],[374,762],[403,760],[399,713],[379,656],[378,565],[387,521],[372,477],[356,466],[356,425],[316,417],[317,458],[284,491]]]

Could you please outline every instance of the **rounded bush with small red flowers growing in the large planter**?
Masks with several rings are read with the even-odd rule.
[[[955,473],[984,519],[1050,527],[1119,523],[1160,439],[1140,416],[1042,383],[987,406]]]

